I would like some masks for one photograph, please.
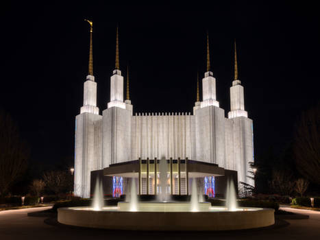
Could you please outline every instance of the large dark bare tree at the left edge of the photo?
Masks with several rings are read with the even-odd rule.
[[[29,149],[21,140],[16,123],[0,110],[0,195],[7,193],[23,175],[28,158]]]

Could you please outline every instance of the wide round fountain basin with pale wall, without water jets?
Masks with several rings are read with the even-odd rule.
[[[209,204],[209,205],[208,205]],[[274,210],[237,208],[227,211],[200,203],[199,211],[190,211],[189,203],[139,202],[138,211],[129,211],[128,203],[95,211],[90,207],[58,208],[61,224],[119,230],[239,230],[274,224]]]

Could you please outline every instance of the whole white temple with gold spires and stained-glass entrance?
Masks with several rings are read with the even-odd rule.
[[[138,179],[139,194],[156,194],[161,160],[166,160],[167,191],[173,195],[190,193],[191,178],[197,178],[201,191],[210,196],[225,190],[226,178],[254,186],[250,167],[254,162],[253,123],[245,111],[244,89],[238,79],[236,43],[227,117],[219,107],[216,78],[210,71],[208,34],[202,99],[198,80],[193,112],[134,113],[128,73],[125,89],[119,67],[117,28],[110,101],[100,113],[93,75],[93,23],[88,23],[89,71],[84,105],[75,118],[75,195],[90,197],[97,176],[103,178],[105,194],[125,194],[132,178]]]

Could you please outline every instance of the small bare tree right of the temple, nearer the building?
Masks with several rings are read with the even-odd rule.
[[[292,174],[287,173],[286,171],[274,170],[270,187],[274,193],[290,195],[295,187],[295,182],[292,180]]]

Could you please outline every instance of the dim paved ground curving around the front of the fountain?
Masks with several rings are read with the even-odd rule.
[[[27,213],[48,209],[27,208],[0,212],[0,239],[320,239],[320,212],[282,208],[286,211],[308,214],[310,219],[286,220],[289,226],[262,230],[244,230],[231,232],[134,232],[116,230],[92,230],[51,226],[45,224],[46,217],[28,217]]]

